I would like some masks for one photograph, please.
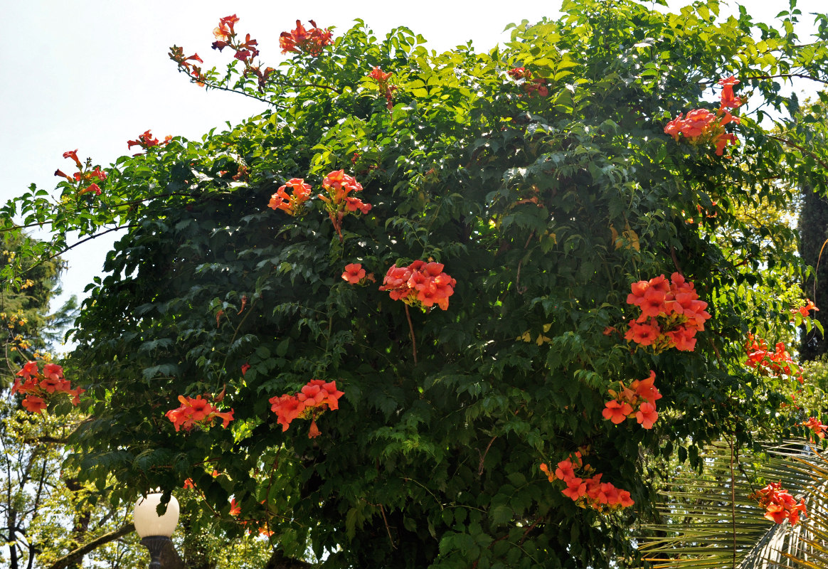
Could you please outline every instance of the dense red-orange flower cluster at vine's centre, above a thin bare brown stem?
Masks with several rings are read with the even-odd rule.
[[[393,301],[410,306],[431,308],[435,304],[444,311],[449,308],[449,297],[455,293],[457,281],[443,272],[442,263],[415,261],[407,267],[393,265],[383,279],[381,291],[388,291]]]

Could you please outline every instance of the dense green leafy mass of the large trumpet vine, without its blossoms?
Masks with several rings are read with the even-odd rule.
[[[101,195],[67,181],[57,207],[35,188],[7,205],[26,224],[48,219],[56,248],[66,229],[127,232],[76,323],[84,476],[102,489],[114,476],[113,499],[190,478],[205,502],[195,526],[266,525],[280,552],[310,548],[324,567],[607,567],[634,559],[628,528],[653,514],[643,453],[697,465],[724,433],[746,444],[801,422],[781,407],[787,382],[744,366],[748,333],[796,307],[775,293],[797,276],[795,236],[740,212],[784,208],[797,184],[826,190],[813,167],[825,148],[808,145],[814,125],[794,120],[780,86],[826,79],[828,20],[821,41],[797,46],[795,14],[777,31],[745,12],[717,22],[715,2],[564,11],[489,54],[430,54],[405,29],[377,41],[359,23],[261,90],[233,61],[208,86],[272,110],[122,157]],[[390,109],[374,66],[397,85]],[[664,134],[678,113],[715,108],[705,101],[729,75],[750,94],[729,126],[739,147],[718,157]],[[768,108],[784,135],[760,126]],[[286,180],[315,194],[338,169],[373,205],[344,218],[343,239],[320,200],[298,217],[267,208]],[[446,311],[378,291],[392,264],[432,258],[456,280]],[[378,282],[344,282],[349,263]],[[631,282],[672,272],[710,302],[696,350],[604,334],[633,316]],[[664,395],[655,426],[605,421],[607,389],[650,369]],[[268,403],[310,379],[344,392],[315,439],[301,419],[283,432]],[[176,432],[165,417],[179,395],[223,391],[227,428]],[[538,469],[579,448],[632,508],[579,508]]]

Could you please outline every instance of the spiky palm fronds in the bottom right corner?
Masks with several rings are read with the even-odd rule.
[[[660,522],[642,527],[639,550],[652,567],[828,567],[828,460],[812,446],[787,441],[737,457],[722,441],[700,458],[702,473],[676,473],[658,506]],[[749,496],[768,482],[805,498],[810,517],[797,526],[765,519]]]

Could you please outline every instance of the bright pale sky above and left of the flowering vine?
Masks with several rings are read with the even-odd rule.
[[[803,40],[813,29],[808,12],[826,11],[823,2],[798,2],[803,23],[808,24],[802,26]],[[686,3],[671,0],[671,7],[677,11]],[[788,2],[745,3],[754,19],[772,22]],[[400,9],[403,5],[406,9]],[[223,68],[231,55],[210,49],[219,17],[237,14],[237,31],[256,38],[262,61],[272,65],[282,60],[279,33],[295,27],[296,18],[313,18],[320,27],[343,31],[360,17],[378,37],[392,27],[406,26],[425,36],[437,51],[468,40],[478,51],[488,51],[508,40],[502,31],[509,22],[554,18],[559,12],[550,7],[558,5],[548,0],[4,2],[0,202],[33,182],[54,188],[55,169],[74,171],[71,161],[62,157],[67,150],[78,148],[81,160],[92,157],[93,163],[107,166],[128,153],[128,139],[147,128],[159,138],[200,138],[210,128],[222,128],[225,121],[238,123],[262,111],[264,104],[253,99],[219,91],[205,94],[179,74],[167,56],[169,46],[176,44],[186,55],[197,51],[206,68]],[[735,4],[730,11],[735,11]],[[70,265],[64,275],[66,295],[83,297],[111,243],[107,237],[65,254]]]

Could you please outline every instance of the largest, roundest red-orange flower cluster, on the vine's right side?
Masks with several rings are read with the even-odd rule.
[[[629,322],[624,337],[640,345],[652,345],[656,351],[676,348],[689,352],[696,348],[696,332],[705,329],[710,314],[692,282],[677,272],[670,278],[668,282],[659,275],[633,282],[627,303],[638,306],[641,316]]]

